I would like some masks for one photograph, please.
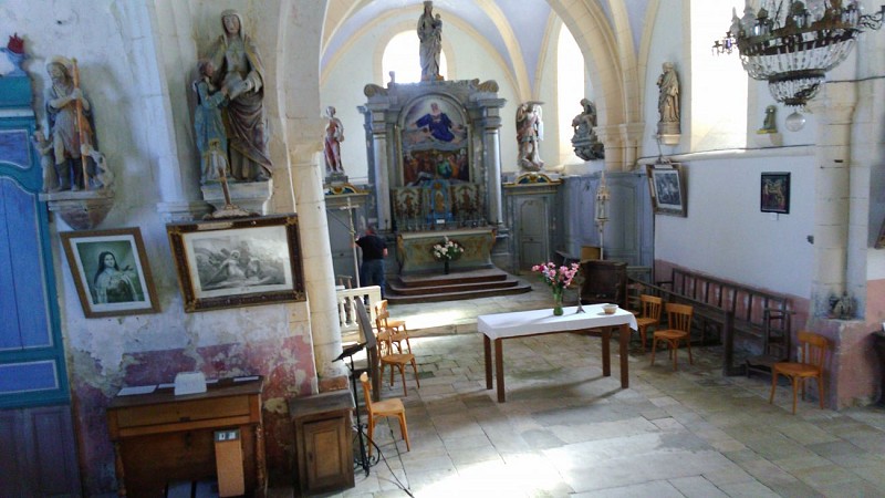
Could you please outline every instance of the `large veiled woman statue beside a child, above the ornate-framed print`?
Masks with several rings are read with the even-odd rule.
[[[214,83],[228,92],[226,135],[230,145],[230,176],[242,181],[266,181],[273,168],[268,154],[264,120],[264,66],[252,39],[243,33],[236,10],[221,12],[225,34],[211,51],[218,70]]]

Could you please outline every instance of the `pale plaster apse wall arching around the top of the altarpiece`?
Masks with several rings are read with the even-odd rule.
[[[403,23],[414,25],[416,15],[402,15],[385,22],[385,25],[400,27]],[[402,21],[402,22],[399,22]],[[444,19],[445,22],[445,19]],[[394,28],[398,32],[397,28]],[[337,117],[343,122],[345,141],[342,144],[342,164],[352,183],[364,183],[367,178],[367,158],[364,116],[356,107],[365,105],[366,96],[363,89],[368,83],[385,86],[387,80],[377,81],[374,54],[382,48],[378,43],[389,40],[392,34],[381,25],[374,25],[360,39],[352,40],[351,50],[329,68],[327,76],[320,87],[321,108],[327,105],[335,106]],[[517,92],[509,83],[507,69],[500,66],[498,59],[492,58],[485,46],[473,38],[457,28],[456,22],[447,22],[442,33],[444,46],[449,68],[456,70],[447,75],[448,80],[473,80],[481,82],[494,80],[498,82],[498,96],[504,98],[507,104],[501,110],[501,169],[512,172],[517,169],[516,145],[516,110]],[[417,35],[415,43],[418,43]],[[448,48],[452,50],[448,50]],[[415,61],[418,64],[418,61]],[[322,143],[322,134],[316,135],[317,144]],[[322,160],[322,159],[320,159]]]

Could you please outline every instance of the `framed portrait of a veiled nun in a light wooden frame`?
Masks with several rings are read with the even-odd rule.
[[[86,318],[159,311],[138,228],[60,235]]]

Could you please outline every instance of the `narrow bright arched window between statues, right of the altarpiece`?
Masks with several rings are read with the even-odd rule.
[[[563,24],[556,42],[556,108],[559,110],[559,163],[582,163],[572,147],[572,118],[581,114],[584,98],[584,54],[571,31]],[[551,137],[552,138],[552,137]]]

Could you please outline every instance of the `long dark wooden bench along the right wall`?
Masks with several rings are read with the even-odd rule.
[[[631,279],[631,283],[665,301],[693,305],[699,342],[709,343],[708,335],[722,342],[725,375],[770,372],[772,363],[789,356],[793,311],[783,295],[680,268],[673,269],[668,281],[650,284]],[[736,341],[757,354],[733,365]]]

